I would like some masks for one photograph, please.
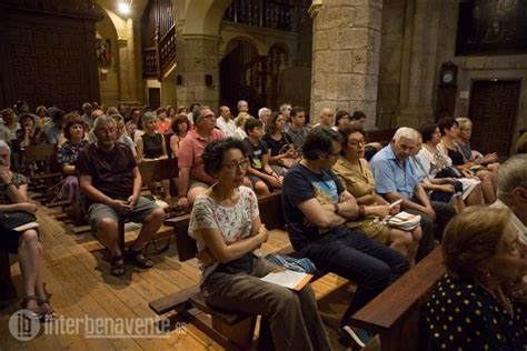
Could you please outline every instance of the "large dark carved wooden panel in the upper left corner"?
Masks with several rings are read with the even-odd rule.
[[[57,104],[80,110],[82,102],[99,101],[97,17],[1,7],[0,12],[1,106],[24,99],[33,108]]]

